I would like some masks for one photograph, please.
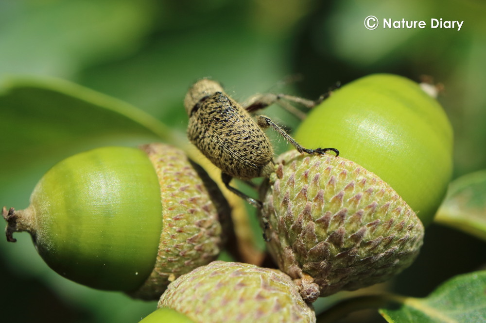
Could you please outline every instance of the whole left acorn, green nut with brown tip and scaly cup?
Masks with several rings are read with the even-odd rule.
[[[157,299],[218,255],[218,212],[227,204],[215,187],[169,145],[93,149],[53,166],[27,209],[4,207],[5,232],[11,242],[29,232],[44,261],[70,280]]]

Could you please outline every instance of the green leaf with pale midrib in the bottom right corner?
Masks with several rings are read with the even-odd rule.
[[[486,271],[455,276],[426,298],[394,296],[379,310],[388,322],[485,322]],[[397,307],[397,303],[399,306]]]

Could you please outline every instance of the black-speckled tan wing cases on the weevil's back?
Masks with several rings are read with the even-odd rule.
[[[265,176],[273,169],[270,142],[250,114],[235,107],[222,92],[203,97],[191,111],[189,140],[227,175]]]

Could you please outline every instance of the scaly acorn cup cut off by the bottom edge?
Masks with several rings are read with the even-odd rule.
[[[180,276],[158,307],[195,323],[315,322],[312,306],[288,275],[239,262],[213,261]]]

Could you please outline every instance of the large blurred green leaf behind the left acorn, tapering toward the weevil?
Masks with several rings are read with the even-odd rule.
[[[4,81],[0,120],[0,205],[17,208],[28,204],[37,180],[70,155],[103,145],[181,142],[123,101],[54,79]]]

